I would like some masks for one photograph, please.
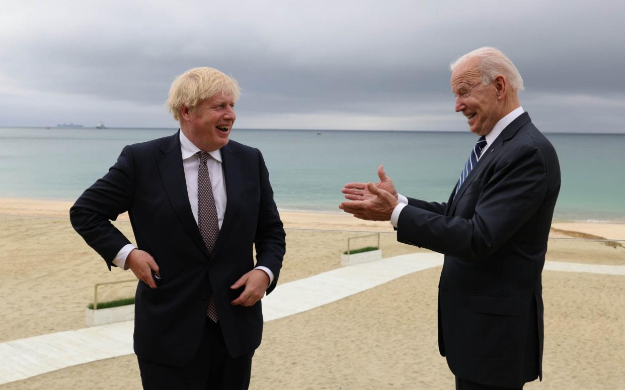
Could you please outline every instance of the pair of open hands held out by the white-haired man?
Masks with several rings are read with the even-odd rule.
[[[391,178],[386,176],[384,165],[377,168],[377,183],[347,183],[341,190],[348,202],[339,208],[361,220],[389,221],[397,206],[397,191]]]

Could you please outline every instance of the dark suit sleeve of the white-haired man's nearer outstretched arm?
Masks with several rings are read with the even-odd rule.
[[[494,164],[472,215],[450,217],[408,205],[399,215],[397,240],[473,261],[496,251],[536,213],[548,183],[544,158],[534,145],[519,145]]]

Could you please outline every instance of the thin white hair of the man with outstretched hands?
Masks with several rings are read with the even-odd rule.
[[[449,64],[449,69],[453,72],[457,66],[465,64],[467,61],[477,58],[479,61],[479,71],[482,74],[482,85],[491,84],[497,76],[504,76],[508,84],[514,90],[523,90],[523,79],[521,74],[517,71],[516,66],[512,64],[512,61],[506,54],[495,49],[494,47],[484,46],[479,49],[475,49],[472,52],[464,54],[456,61],[452,61]]]

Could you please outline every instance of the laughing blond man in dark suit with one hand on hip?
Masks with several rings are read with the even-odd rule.
[[[134,351],[145,389],[249,386],[260,300],[276,286],[285,241],[261,153],[229,140],[239,94],[216,69],[179,76],[168,104],[180,130],[126,146],[70,211],[109,270],[140,280]],[[137,247],[110,222],[126,211]]]

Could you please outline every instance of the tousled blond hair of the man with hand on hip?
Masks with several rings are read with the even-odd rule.
[[[236,102],[241,96],[241,90],[235,79],[217,69],[197,67],[184,72],[171,83],[167,105],[174,119],[179,121],[182,119],[181,107],[195,112],[203,100],[217,94],[230,95]]]

